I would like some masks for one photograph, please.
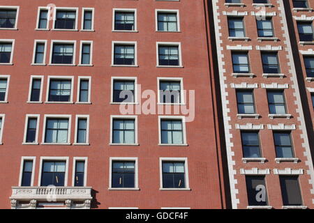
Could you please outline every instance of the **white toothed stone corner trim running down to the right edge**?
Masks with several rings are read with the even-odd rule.
[[[300,91],[299,91],[299,84],[298,84],[298,80],[297,80],[297,72],[295,70],[295,64],[294,64],[294,59],[293,59],[293,55],[292,55],[292,49],[291,49],[291,41],[290,41],[290,37],[289,37],[289,32],[288,32],[288,28],[287,28],[287,20],[285,17],[285,8],[283,5],[283,0],[277,0],[279,6],[280,6],[280,17],[282,20],[282,24],[283,24],[283,31],[284,31],[284,36],[286,39],[286,43],[287,43],[287,52],[289,54],[289,60],[290,60],[290,66],[291,66],[291,73],[292,73],[292,81],[294,82],[294,89],[295,89],[295,97],[296,97],[296,101],[294,101],[294,104],[297,105],[298,109],[297,111],[299,112],[299,122],[301,123],[301,125],[299,126],[299,129],[302,131],[301,134],[301,138],[304,139],[304,143],[302,144],[302,147],[304,148],[304,153],[307,155],[305,160],[305,164],[308,166],[308,170],[306,170],[306,173],[308,175],[310,175],[311,179],[308,180],[308,183],[311,184],[311,194],[314,194],[314,169],[313,169],[313,161],[312,161],[312,157],[311,157],[311,149],[310,146],[308,144],[308,133],[306,130],[306,123],[305,123],[305,118],[304,118],[304,112],[303,112],[303,107],[301,105],[301,95],[300,95]],[[312,202],[314,203],[314,199],[312,197]]]

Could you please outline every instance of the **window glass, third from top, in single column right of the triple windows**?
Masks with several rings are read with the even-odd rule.
[[[114,81],[113,102],[134,102],[134,81]]]

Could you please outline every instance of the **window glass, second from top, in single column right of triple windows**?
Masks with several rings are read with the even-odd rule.
[[[114,45],[115,65],[134,65],[135,49],[134,45]]]

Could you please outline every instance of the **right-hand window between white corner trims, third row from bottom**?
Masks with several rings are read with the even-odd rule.
[[[269,114],[286,114],[283,91],[267,91]]]

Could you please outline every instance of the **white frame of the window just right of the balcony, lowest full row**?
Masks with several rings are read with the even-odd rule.
[[[134,187],[112,187],[112,162],[120,161],[120,162],[135,162],[134,170]],[[140,190],[138,187],[138,158],[137,157],[110,157],[110,165],[109,165],[109,188],[108,190]]]

